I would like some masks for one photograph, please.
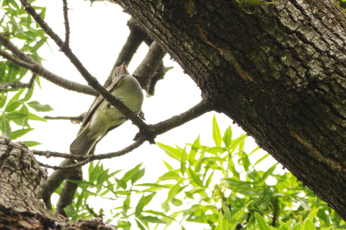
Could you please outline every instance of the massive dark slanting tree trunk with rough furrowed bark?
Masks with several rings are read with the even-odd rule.
[[[333,0],[118,0],[211,101],[346,220],[346,17]],[[253,9],[254,10],[254,9]]]

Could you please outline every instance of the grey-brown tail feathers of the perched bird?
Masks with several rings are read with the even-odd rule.
[[[88,134],[88,129],[83,129],[76,139],[71,143],[70,145],[70,153],[72,154],[80,154],[80,155],[87,155],[91,151],[91,149],[94,147],[95,143],[97,142],[97,138],[92,140],[87,140],[86,134]]]

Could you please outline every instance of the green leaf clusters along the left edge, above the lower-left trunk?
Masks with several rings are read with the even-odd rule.
[[[34,2],[34,0],[30,2]],[[24,51],[29,57],[41,63],[42,58],[38,55],[37,51],[47,42],[48,37],[44,31],[31,19],[31,16],[23,9],[23,6],[20,4],[18,5],[15,0],[1,0],[0,6],[1,33],[12,42],[15,42],[16,45],[20,47],[20,50]],[[35,6],[35,9],[37,9],[44,18],[46,8]],[[1,46],[1,49],[4,48]],[[25,68],[16,66],[6,60],[0,60],[1,85],[19,82],[25,78],[29,79],[32,74],[33,73],[30,73]],[[35,77],[35,82],[40,87],[38,77]],[[30,88],[8,88],[0,92],[0,129],[4,136],[12,140],[33,130],[33,128],[30,127],[29,120],[46,121],[44,118],[38,116],[36,112],[47,112],[52,110],[48,104],[30,101],[34,91],[34,84]],[[17,130],[12,130],[16,127],[13,124],[17,125]],[[39,144],[35,141],[24,142],[26,142],[29,147]]]

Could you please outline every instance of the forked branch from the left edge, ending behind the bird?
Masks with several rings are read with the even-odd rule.
[[[13,57],[10,53],[3,49],[0,49],[0,55],[7,60],[11,61],[17,66],[29,69],[44,79],[56,84],[67,90],[72,90],[79,93],[84,93],[92,96],[98,96],[99,94],[90,86],[80,84],[74,81],[67,80],[45,69],[40,63],[34,61],[27,56],[23,51],[18,49],[9,39],[7,39],[2,33],[0,33],[0,43],[10,50],[16,57]]]

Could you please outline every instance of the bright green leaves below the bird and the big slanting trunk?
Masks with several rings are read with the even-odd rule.
[[[215,145],[211,147],[202,145],[200,137],[184,148],[157,143],[173,162],[163,162],[167,172],[155,183],[137,183],[145,172],[140,164],[120,179],[115,176],[119,171],[109,173],[102,164],[91,164],[89,181],[74,181],[82,191],[67,213],[72,219],[91,217],[92,212],[85,208],[88,199],[102,197],[121,201],[108,212],[109,220],[116,220],[123,229],[129,229],[131,222],[149,229],[149,223],[182,221],[202,223],[213,230],[299,230],[314,229],[315,224],[319,229],[345,227],[333,209],[290,172],[279,170],[277,163],[265,171],[257,170],[261,164],[266,166],[268,154],[258,153],[258,147],[246,153],[246,134],[233,138],[229,126],[221,136],[215,117],[212,126]],[[179,167],[172,166],[174,161]],[[143,186],[146,189],[140,190]],[[156,200],[158,190],[165,192],[164,202]],[[161,208],[157,203],[162,203]]]

